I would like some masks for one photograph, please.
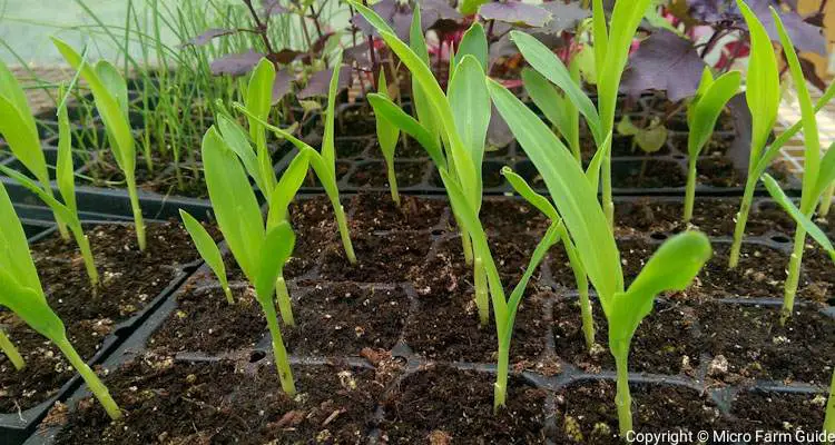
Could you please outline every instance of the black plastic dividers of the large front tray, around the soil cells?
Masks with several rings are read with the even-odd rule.
[[[305,199],[315,199],[307,197]],[[666,200],[675,201],[675,199],[665,198]],[[502,199],[489,199],[499,201]],[[633,200],[633,199],[627,199],[627,200]],[[623,199],[620,200],[620,204],[623,204]],[[768,205],[768,200],[759,199],[757,200],[757,207],[762,207]],[[350,207],[348,207],[350,206]],[[353,205],[346,204],[347,210],[350,216],[354,216],[356,212],[356,208]],[[440,220],[436,224],[429,224],[429,227],[422,230],[371,230],[367,231],[367,234],[372,234],[376,237],[384,237],[386,235],[396,235],[400,236],[404,234],[418,234],[424,237],[424,239],[432,241],[432,247],[429,249],[426,254],[426,259],[424,263],[428,263],[432,259],[433,254],[436,253],[440,249],[440,246],[444,241],[449,240],[455,240],[456,237],[453,233],[445,231],[450,226],[450,215],[449,209],[445,209],[443,215],[441,216]],[[367,235],[366,234],[366,235]],[[644,234],[641,236],[632,236],[632,237],[619,237],[621,240],[628,240],[628,239],[636,239],[638,237],[644,238],[649,244],[652,245],[659,245],[664,236],[655,236],[649,237],[649,234]],[[715,237],[711,238],[711,241],[715,245],[721,245],[729,243],[729,239],[727,237]],[[335,241],[338,244],[338,241]],[[456,245],[455,245],[456,246]],[[746,241],[746,246],[765,246],[774,249],[779,249],[782,251],[788,251],[790,249],[790,244],[782,243],[775,240],[775,233],[767,233],[762,236],[757,237],[749,237]],[[357,257],[362,257],[362,253],[357,251]],[[551,253],[551,256],[553,256],[553,251]],[[328,280],[327,277],[323,278],[322,275],[322,265],[325,260],[325,254],[322,254],[322,256],[315,261],[315,265],[313,269],[310,269],[307,273],[302,274],[297,277],[288,279],[288,287],[292,295],[292,298],[294,299],[294,309],[297,312],[305,305],[305,299],[307,296],[316,290],[317,287],[322,287],[324,289],[330,289],[334,286],[338,286],[340,284],[344,281],[334,281]],[[362,258],[361,258],[362,260]],[[439,271],[440,273],[440,271]],[[391,348],[391,353],[393,356],[400,358],[400,363],[402,368],[400,369],[400,376],[392,382],[390,385],[387,385],[385,389],[385,395],[392,394],[393,390],[399,388],[401,386],[401,383],[404,382],[405,378],[409,376],[425,370],[431,364],[435,364],[439,366],[449,366],[454,369],[460,370],[475,370],[479,374],[485,374],[491,375],[494,374],[494,365],[490,362],[482,362],[482,360],[448,360],[448,359],[434,359],[429,357],[425,354],[420,354],[416,352],[412,346],[410,346],[410,343],[407,342],[407,327],[415,322],[416,317],[424,313],[421,310],[421,298],[424,298],[420,295],[419,290],[415,288],[415,285],[412,283],[412,280],[405,280],[405,281],[387,281],[387,283],[373,283],[373,281],[352,281],[352,284],[356,284],[360,288],[363,289],[375,289],[375,290],[383,290],[383,289],[392,289],[397,288],[402,289],[406,298],[409,299],[409,308],[399,307],[397,310],[406,310],[406,319],[403,324],[403,328],[400,330],[399,339],[396,344]],[[513,285],[513,283],[505,283],[509,285]],[[246,286],[245,283],[240,281],[233,281],[233,287],[240,287]],[[178,300],[177,296],[181,295],[183,293],[199,293],[199,294],[206,294],[206,297],[208,298],[208,293],[212,290],[217,290],[218,284],[214,279],[213,273],[206,267],[203,266],[197,273],[194,274],[191,279],[188,280],[187,284],[181,286],[176,293],[171,294],[169,297],[165,298],[165,300],[159,305],[157,310],[155,310],[153,314],[150,314],[147,318],[147,320],[143,324],[141,327],[136,329],[134,334],[125,340],[119,348],[111,354],[109,357],[107,357],[102,365],[109,372],[118,373],[119,365],[126,363],[127,360],[130,360],[131,358],[136,358],[140,356],[141,354],[146,352],[154,352],[155,346],[148,344],[148,339],[154,336],[154,334],[166,324],[166,322],[171,317],[174,313],[177,312],[178,308]],[[531,289],[534,291],[531,293]],[[466,290],[469,293],[470,290]],[[544,389],[548,394],[548,398],[544,404],[546,409],[546,422],[542,425],[543,431],[547,432],[547,435],[550,439],[550,443],[559,443],[554,437],[558,432],[561,431],[562,426],[559,424],[559,422],[562,421],[562,417],[559,415],[556,415],[557,413],[557,404],[558,400],[563,396],[566,392],[572,390],[573,385],[580,385],[588,382],[613,382],[615,380],[615,373],[613,368],[609,369],[603,366],[599,372],[590,372],[588,369],[583,369],[579,366],[577,366],[576,363],[572,363],[570,357],[564,355],[564,350],[559,348],[557,345],[557,340],[554,337],[553,332],[553,324],[554,324],[554,305],[564,303],[564,301],[572,301],[577,298],[576,290],[571,289],[570,287],[561,286],[559,283],[554,280],[554,269],[553,265],[550,260],[547,260],[541,266],[540,273],[538,274],[538,277],[536,278],[536,283],[529,288],[529,294],[525,297],[525,301],[530,298],[533,298],[533,296],[537,296],[542,304],[540,306],[540,313],[538,313],[537,317],[543,322],[543,328],[541,329],[542,335],[542,342],[543,342],[543,348],[541,353],[538,354],[534,359],[522,363],[522,362],[512,362],[511,368],[512,369],[523,369],[520,372],[520,375],[522,378],[524,378],[532,387],[538,387],[541,389]],[[593,298],[593,293],[592,293]],[[667,296],[665,298],[660,298],[657,304],[657,310],[662,310],[664,307],[680,305],[684,307],[695,307],[698,308],[700,305],[703,305],[705,301],[700,300],[685,300],[679,301],[675,295]],[[736,298],[715,298],[710,300],[711,304],[719,305],[720,307],[725,308],[733,308],[733,307],[753,307],[753,308],[764,308],[763,310],[773,310],[774,313],[778,313],[778,309],[782,305],[782,299],[779,298],[746,298],[744,296],[738,296]],[[533,306],[528,306],[533,307]],[[678,307],[678,306],[676,306]],[[809,313],[819,313],[823,314],[825,317],[833,318],[835,317],[835,309],[831,307],[823,307],[823,306],[815,306],[807,303],[799,303],[798,309]],[[573,317],[579,319],[579,310],[576,310],[573,313]],[[474,318],[474,314],[472,315]],[[465,320],[458,319],[456,323],[463,323]],[[645,324],[651,323],[651,320],[645,322]],[[514,332],[519,333],[520,329],[520,323],[518,322],[517,327]],[[690,333],[698,332],[700,329],[698,319],[695,322],[695,325],[690,328]],[[262,332],[266,332],[266,327],[263,327]],[[640,334],[639,334],[640,335]],[[285,337],[286,338],[286,337]],[[598,339],[603,340],[605,339],[605,333],[602,329],[598,329]],[[517,338],[514,337],[514,342]],[[671,374],[662,374],[662,373],[652,373],[652,372],[639,372],[635,369],[635,366],[638,365],[638,358],[636,358],[636,354],[640,350],[640,344],[638,342],[640,340],[640,337],[636,337],[636,344],[632,348],[632,360],[630,360],[630,366],[632,366],[630,369],[633,372],[630,374],[630,382],[632,384],[633,390],[637,390],[636,388],[641,387],[662,387],[662,388],[689,388],[694,390],[694,394],[701,395],[704,397],[704,402],[706,404],[715,405],[718,412],[721,413],[720,421],[721,424],[717,424],[717,428],[720,426],[727,427],[727,425],[735,425],[735,412],[734,412],[734,399],[737,395],[740,394],[748,394],[752,392],[766,392],[767,394],[772,394],[774,397],[783,397],[783,395],[793,395],[793,394],[802,394],[802,395],[808,395],[809,398],[815,397],[816,395],[825,394],[825,388],[828,382],[816,382],[815,384],[806,384],[802,382],[792,382],[786,384],[783,380],[774,380],[774,379],[743,379],[739,382],[734,383],[727,383],[721,382],[721,379],[716,379],[709,377],[710,370],[709,367],[711,366],[711,362],[715,357],[711,357],[709,354],[700,353],[698,357],[699,363],[697,366],[694,366],[694,368],[689,372],[679,372],[679,373],[671,373]],[[687,337],[686,342],[695,342],[696,338]],[[272,363],[272,349],[271,349],[271,343],[269,343],[269,336],[265,334],[257,344],[249,348],[242,348],[237,350],[233,350],[225,354],[206,354],[199,350],[195,352],[183,352],[178,353],[175,356],[175,360],[177,362],[187,362],[187,363],[215,363],[217,360],[222,359],[230,359],[236,360],[244,366],[258,366],[259,364],[263,366],[273,366]],[[292,349],[293,345],[288,345],[288,347]],[[492,345],[494,348],[495,345]],[[513,349],[511,349],[511,359],[515,360],[513,355]],[[603,352],[602,354],[608,354],[608,352]],[[292,363],[294,365],[325,365],[325,364],[333,364],[333,363],[346,363],[352,367],[361,367],[361,368],[372,368],[374,365],[369,363],[365,358],[363,358],[360,354],[325,354],[325,355],[293,355]],[[248,365],[247,365],[248,364]],[[515,365],[519,365],[517,367]],[[276,382],[276,387],[278,383]],[[80,388],[77,390],[71,398],[71,402],[77,402],[81,397],[86,396],[86,390],[84,388]],[[513,392],[511,390],[508,395],[509,399],[514,397]],[[607,400],[608,403],[613,403],[613,400]],[[72,406],[73,404],[70,403]],[[70,407],[72,409],[72,407]],[[822,407],[823,413],[823,407]],[[384,407],[377,406],[376,409],[373,411],[373,413],[369,413],[370,418],[373,418],[372,427],[369,431],[369,436],[372,437],[373,441],[377,441],[379,436],[381,434],[379,426],[383,422],[383,418],[385,417],[385,409]],[[639,417],[636,417],[636,425],[640,427],[641,422],[638,419]],[[657,426],[657,425],[656,425]],[[674,426],[680,426],[680,424],[671,424],[669,427]],[[27,444],[48,444],[51,443],[51,439],[53,438],[55,434],[57,434],[58,429],[52,427],[48,428],[45,432],[40,432],[36,435],[33,435]],[[379,442],[379,441],[377,441]]]

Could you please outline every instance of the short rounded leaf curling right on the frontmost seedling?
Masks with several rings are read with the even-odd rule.
[[[611,301],[607,313],[609,343],[628,343],[652,310],[656,296],[686,289],[711,255],[710,240],[700,231],[686,231],[662,244],[629,289]]]

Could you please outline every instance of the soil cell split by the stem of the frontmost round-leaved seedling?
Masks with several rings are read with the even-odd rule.
[[[591,301],[596,342],[608,342],[608,326],[600,304]],[[696,316],[689,306],[657,301],[641,322],[632,339],[629,370],[639,373],[695,376],[699,348],[695,343]],[[553,336],[557,354],[587,373],[615,370],[615,358],[606,347],[592,352],[586,345],[577,299],[560,299],[553,306]]]

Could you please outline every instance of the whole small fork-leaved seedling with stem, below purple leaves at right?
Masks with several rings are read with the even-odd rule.
[[[699,155],[714,134],[725,105],[739,90],[741,75],[738,71],[726,72],[714,79],[710,68],[701,75],[699,89],[687,107],[687,125],[690,132],[687,137],[687,188],[685,191],[685,222],[692,218],[692,206],[696,200],[696,166]]]

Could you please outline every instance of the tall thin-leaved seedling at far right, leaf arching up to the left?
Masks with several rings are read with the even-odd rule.
[[[807,217],[815,212],[821,198],[835,179],[835,152],[829,150],[824,159],[821,159],[821,139],[817,132],[817,120],[815,109],[812,106],[806,79],[803,75],[803,68],[794,49],[792,39],[788,37],[777,11],[772,9],[774,22],[777,26],[777,32],[780,37],[780,43],[788,61],[789,71],[797,91],[797,100],[800,105],[803,121],[803,139],[806,146],[804,152],[805,166],[803,172],[803,191],[800,195],[800,211]],[[780,319],[785,322],[792,316],[797,285],[800,277],[800,264],[803,263],[803,251],[806,246],[806,229],[803,225],[797,225],[795,229],[794,251],[788,263],[788,277],[785,283],[783,299],[783,314]]]

